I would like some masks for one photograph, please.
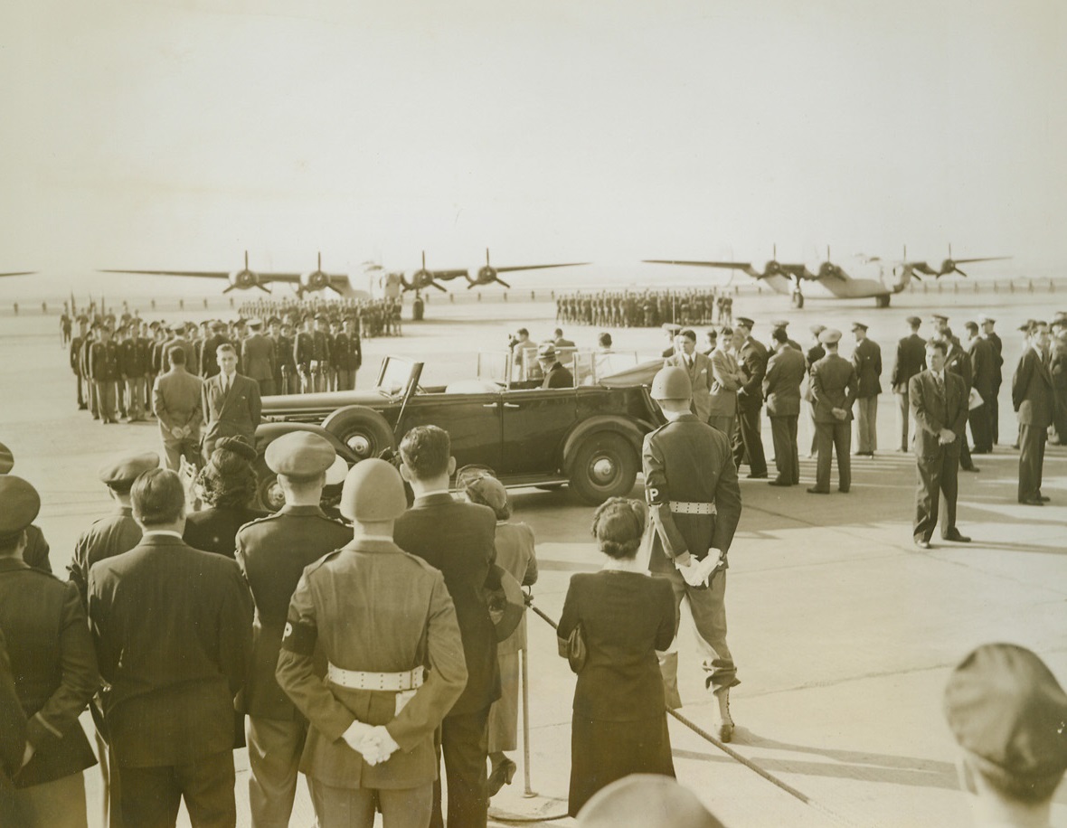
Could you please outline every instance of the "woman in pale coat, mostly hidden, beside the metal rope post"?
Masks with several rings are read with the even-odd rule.
[[[534,529],[525,523],[510,523],[511,499],[504,484],[484,467],[461,468],[456,487],[467,500],[488,506],[496,514],[496,563],[524,587],[537,583]],[[526,650],[526,616],[515,631],[496,644],[500,666],[500,698],[489,710],[489,796],[511,784],[515,763],[506,750],[519,747],[519,651]]]

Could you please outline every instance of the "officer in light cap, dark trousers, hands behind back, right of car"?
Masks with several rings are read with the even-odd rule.
[[[828,328],[818,335],[826,356],[811,368],[811,394],[815,400],[815,436],[818,461],[815,485],[809,494],[830,493],[830,461],[838,452],[838,491],[847,493],[853,484],[850,443],[853,402],[856,401],[856,369],[838,354],[841,331]]]

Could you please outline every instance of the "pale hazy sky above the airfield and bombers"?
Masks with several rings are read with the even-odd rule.
[[[1063,261],[1051,0],[0,7],[0,271]]]

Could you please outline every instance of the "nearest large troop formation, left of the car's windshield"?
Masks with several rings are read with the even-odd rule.
[[[186,352],[187,370],[207,379],[219,373],[220,345],[234,345],[238,371],[259,384],[261,395],[349,391],[363,364],[359,320],[353,316],[305,314],[298,321],[271,317],[264,333],[260,319],[145,323],[136,316],[120,319],[78,317],[69,346],[77,380],[78,408],[105,424],[145,418],[152,411],[156,377],[168,369],[174,346]]]

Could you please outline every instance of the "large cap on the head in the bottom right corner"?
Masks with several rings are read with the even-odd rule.
[[[983,644],[949,676],[944,715],[959,746],[1014,776],[1067,769],[1067,695],[1036,654]]]

